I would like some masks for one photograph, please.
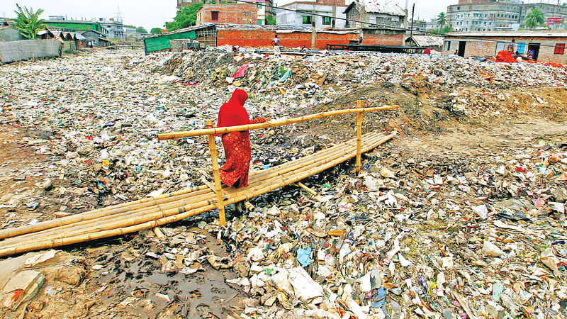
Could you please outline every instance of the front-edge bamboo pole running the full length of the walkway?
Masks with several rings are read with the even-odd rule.
[[[372,148],[382,144],[383,142],[386,142],[387,140],[390,140],[391,138],[393,138],[393,136],[395,136],[395,134],[391,134],[388,135],[384,138],[381,138],[375,142],[372,142],[369,145],[364,145],[364,152],[366,152],[367,150],[371,150]],[[296,173],[296,174],[292,174],[289,177],[285,177],[282,179],[281,183],[279,184],[267,184],[267,186],[264,186],[264,188],[261,189],[256,189],[254,191],[254,194],[249,194],[248,189],[242,189],[241,193],[238,196],[234,196],[232,198],[230,198],[228,200],[228,203],[235,203],[237,201],[242,201],[244,199],[249,198],[249,196],[258,196],[260,194],[264,194],[268,191],[271,191],[273,189],[279,188],[281,186],[285,186],[288,184],[291,184],[293,182],[296,181],[300,181],[301,179],[304,179],[305,177],[311,176],[313,174],[317,174],[318,172],[322,172],[325,169],[328,169],[330,167],[335,166],[336,164],[339,164],[340,162],[344,162],[347,159],[350,159],[352,157],[354,157],[355,155],[353,153],[350,153],[348,155],[345,155],[344,157],[339,157],[338,159],[334,159],[334,160],[326,160],[325,164],[322,165],[318,165],[315,167],[315,169],[313,169],[313,171],[308,171],[308,172],[300,172],[300,173]],[[264,184],[264,183],[262,183]],[[32,243],[21,243],[21,245],[16,245],[13,247],[2,247],[0,249],[0,257],[2,256],[6,256],[9,254],[18,254],[21,252],[28,252],[31,250],[40,250],[40,249],[45,249],[45,248],[52,248],[52,247],[59,247],[59,246],[63,246],[63,245],[71,245],[71,244],[75,244],[78,242],[84,242],[84,241],[89,241],[89,240],[96,240],[96,239],[100,239],[100,238],[104,238],[104,237],[112,237],[112,236],[116,236],[116,235],[123,235],[125,233],[133,233],[135,231],[139,231],[139,230],[144,230],[144,229],[150,229],[150,228],[154,228],[157,227],[159,225],[164,225],[167,223],[172,223],[178,220],[182,220],[184,218],[190,217],[190,216],[194,216],[198,213],[203,213],[204,211],[210,211],[211,209],[215,209],[215,203],[210,203],[208,206],[203,206],[201,208],[197,208],[197,209],[191,209],[189,207],[180,207],[175,209],[172,209],[168,212],[162,212],[162,218],[159,218],[157,220],[150,220],[147,221],[145,223],[139,223],[141,220],[135,220],[135,223],[133,225],[130,226],[126,226],[126,227],[120,227],[120,225],[124,225],[124,224],[116,224],[113,226],[116,226],[115,228],[109,229],[109,230],[103,230],[103,231],[96,231],[94,233],[84,233],[82,235],[77,235],[77,236],[70,236],[70,237],[65,237],[63,236],[60,239],[57,240],[45,240],[42,242],[32,242]],[[176,213],[172,213],[176,211]],[[169,214],[169,215],[168,215]],[[142,220],[143,220],[144,216],[142,216]],[[70,235],[70,234],[69,234]]]

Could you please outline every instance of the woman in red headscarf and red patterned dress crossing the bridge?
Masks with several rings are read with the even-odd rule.
[[[264,123],[268,118],[248,118],[244,103],[248,94],[244,90],[236,90],[230,100],[220,106],[218,111],[218,128],[225,126]],[[248,186],[248,169],[250,167],[250,138],[247,130],[223,134],[226,163],[220,167],[220,180],[227,186]]]

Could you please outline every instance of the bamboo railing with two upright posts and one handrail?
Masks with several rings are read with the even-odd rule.
[[[329,112],[322,112],[322,113],[315,113],[308,116],[301,116],[299,118],[286,118],[283,120],[277,121],[269,121],[264,123],[258,124],[247,124],[247,125],[237,125],[237,126],[228,126],[223,128],[213,128],[213,121],[207,120],[206,129],[201,130],[189,130],[186,132],[175,132],[175,133],[164,133],[158,134],[157,140],[172,140],[177,138],[190,138],[195,136],[203,136],[208,135],[208,146],[210,150],[210,159],[213,165],[213,175],[215,179],[215,193],[217,197],[218,203],[218,218],[220,220],[220,225],[226,225],[225,219],[225,205],[223,201],[223,189],[221,187],[220,181],[220,172],[218,167],[218,159],[217,159],[217,149],[215,145],[215,135],[216,134],[226,134],[231,132],[238,132],[242,130],[259,130],[261,128],[275,128],[277,126],[288,125],[293,123],[300,123],[305,121],[314,120],[316,118],[325,118],[329,116],[337,116],[343,114],[357,114],[357,172],[360,172],[361,166],[361,142],[362,142],[362,113],[364,112],[371,112],[371,111],[386,111],[386,110],[393,110],[398,108],[399,106],[378,106],[374,108],[362,108],[362,101],[357,101],[357,108],[351,108],[347,110],[337,110],[337,111],[329,111]]]

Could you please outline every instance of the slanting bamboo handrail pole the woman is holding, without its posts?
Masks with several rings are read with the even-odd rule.
[[[310,121],[310,120],[314,120],[315,118],[325,118],[328,116],[336,116],[336,115],[352,114],[352,113],[360,113],[360,112],[385,111],[385,110],[393,110],[395,108],[399,108],[399,106],[393,105],[393,106],[379,106],[375,108],[351,108],[348,110],[337,110],[337,111],[316,113],[308,116],[301,116],[299,118],[287,118],[283,120],[269,121],[258,124],[227,126],[223,128],[206,128],[201,130],[189,130],[186,132],[164,133],[164,134],[158,134],[157,140],[172,140],[176,138],[190,138],[193,136],[202,136],[202,135],[210,135],[210,134],[225,134],[230,132],[238,132],[241,130],[258,130],[261,128],[275,128],[276,126]]]

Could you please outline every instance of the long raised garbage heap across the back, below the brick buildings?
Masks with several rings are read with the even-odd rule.
[[[512,59],[513,62],[517,62]],[[501,64],[454,56],[373,52],[321,52],[279,59],[257,52],[178,52],[136,60],[136,67],[172,74],[186,85],[234,85],[253,91],[305,86],[359,86],[376,82],[424,82],[432,87],[564,86],[567,71],[536,64]],[[507,61],[506,61],[507,62]],[[195,66],[199,67],[196,68]],[[289,78],[289,79],[288,79]],[[288,81],[286,81],[288,80]],[[309,88],[305,88],[308,91]]]

